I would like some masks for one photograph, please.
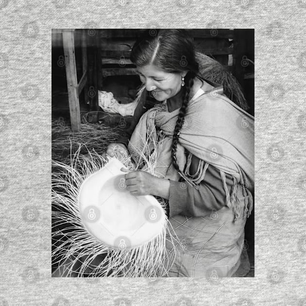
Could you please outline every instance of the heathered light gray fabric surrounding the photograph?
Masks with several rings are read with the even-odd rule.
[[[305,0],[1,0],[0,305],[305,305],[305,16]],[[88,27],[255,28],[255,278],[51,278],[51,28]]]

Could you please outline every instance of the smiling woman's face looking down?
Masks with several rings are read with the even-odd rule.
[[[144,67],[136,66],[137,74],[140,80],[146,85],[146,89],[151,91],[152,96],[157,101],[164,101],[175,96],[182,87],[182,76],[184,73],[170,73],[159,70],[155,65],[147,65]]]

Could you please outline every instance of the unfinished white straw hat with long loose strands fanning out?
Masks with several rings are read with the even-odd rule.
[[[52,161],[52,277],[165,277],[169,259],[166,202],[134,196],[121,168],[136,170],[127,155],[104,159],[80,149],[71,164]]]

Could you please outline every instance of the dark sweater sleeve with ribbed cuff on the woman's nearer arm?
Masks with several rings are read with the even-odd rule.
[[[193,169],[197,168],[198,163],[199,159],[192,158]],[[226,185],[229,190],[233,184],[232,178],[226,175]],[[203,181],[198,185],[198,190],[187,183],[170,180],[169,193],[170,217],[178,214],[200,217],[207,214],[207,211],[219,210],[226,204],[220,171],[212,165],[208,166]]]

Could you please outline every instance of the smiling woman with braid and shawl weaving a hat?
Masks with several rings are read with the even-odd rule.
[[[141,117],[128,150],[140,164],[145,146],[156,150],[157,143],[160,153],[156,176],[125,170],[127,189],[169,200],[169,221],[183,246],[168,246],[176,256],[169,276],[234,276],[253,207],[254,118],[226,98],[222,86],[199,76],[185,30],[145,31],[131,60],[161,103]]]

